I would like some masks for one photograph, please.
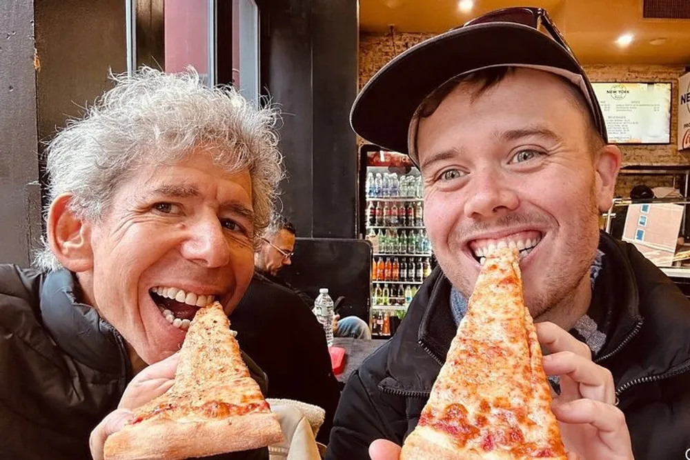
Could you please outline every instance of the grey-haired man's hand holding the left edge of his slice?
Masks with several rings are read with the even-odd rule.
[[[110,434],[122,429],[132,418],[132,410],[159,397],[175,382],[179,353],[148,366],[130,381],[117,410],[110,412],[91,432],[89,446],[94,460],[103,460],[103,445]]]

